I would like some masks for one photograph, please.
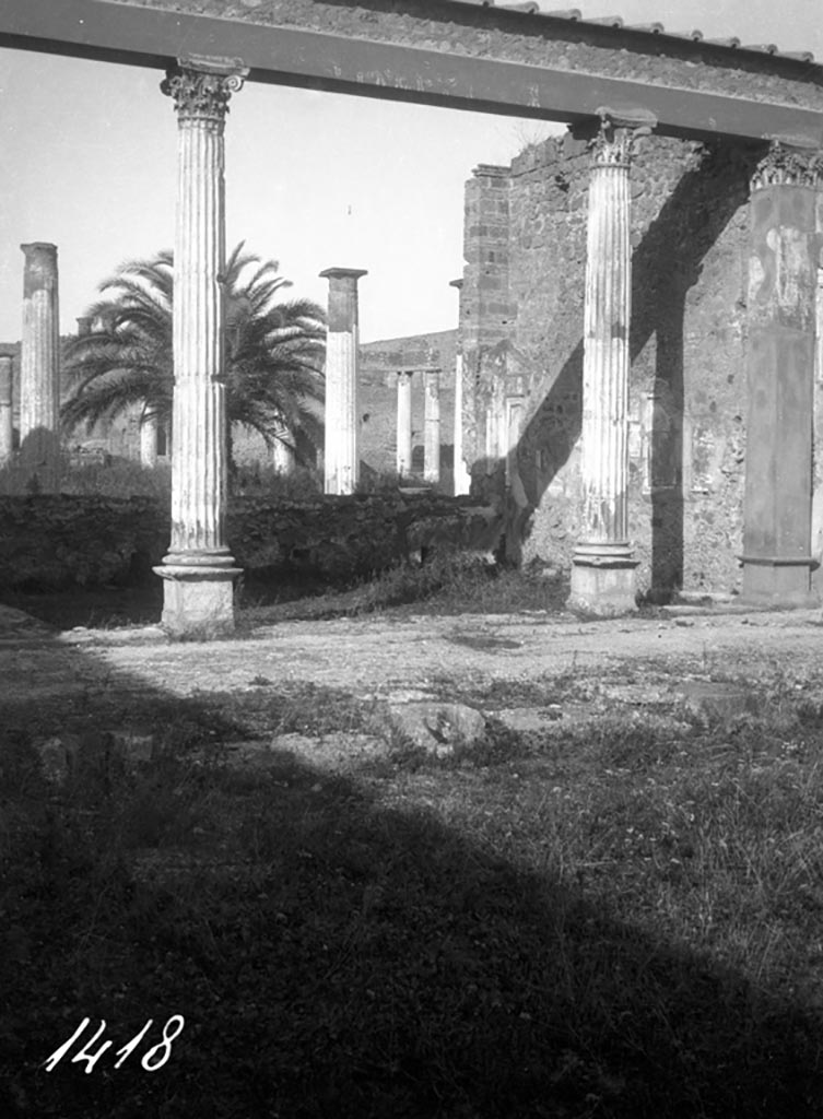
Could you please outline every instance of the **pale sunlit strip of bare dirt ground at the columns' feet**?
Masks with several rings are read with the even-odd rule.
[[[60,632],[0,606],[0,690],[7,700],[146,687],[170,696],[312,683],[374,698],[449,688],[481,692],[581,673],[632,680],[647,693],[679,679],[821,675],[820,610],[696,608],[665,617],[579,621],[544,612],[505,615],[375,614],[287,621],[208,643],[172,642],[157,627]],[[499,684],[496,685],[499,693]]]

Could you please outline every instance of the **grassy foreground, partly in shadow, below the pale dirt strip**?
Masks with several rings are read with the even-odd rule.
[[[597,699],[581,675],[530,698]],[[372,717],[335,689],[250,683],[3,708],[4,1113],[820,1115],[811,692],[777,680],[771,706],[712,721],[595,704],[344,774],[282,751],[230,764],[237,737]],[[58,720],[87,736],[56,789],[32,740]],[[113,764],[88,732],[135,720],[156,760]],[[148,1074],[174,1014],[184,1032]],[[85,1016],[112,1050],[90,1074],[71,1056],[46,1072]]]

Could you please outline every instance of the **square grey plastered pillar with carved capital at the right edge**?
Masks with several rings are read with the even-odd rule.
[[[817,188],[823,156],[773,142],[751,180],[743,599],[814,601]]]

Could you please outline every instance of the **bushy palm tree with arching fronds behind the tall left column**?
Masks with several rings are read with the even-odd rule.
[[[305,461],[322,435],[325,314],[307,299],[280,302],[290,282],[275,261],[243,252],[228,258],[226,293],[226,421],[277,442]],[[139,406],[141,422],[169,427],[174,392],[174,257],[169,251],[123,264],[86,311],[92,330],[67,346],[72,382],[62,407],[66,431],[91,430]]]

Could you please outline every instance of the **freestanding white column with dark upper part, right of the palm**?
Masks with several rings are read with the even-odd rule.
[[[354,493],[359,478],[357,411],[357,281],[363,269],[326,269],[325,491]]]

